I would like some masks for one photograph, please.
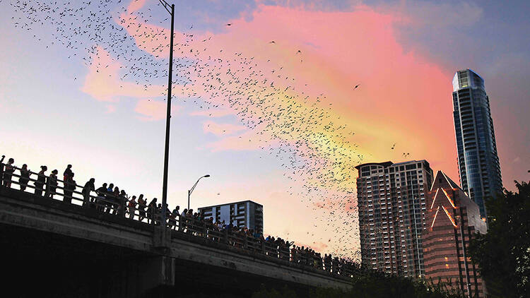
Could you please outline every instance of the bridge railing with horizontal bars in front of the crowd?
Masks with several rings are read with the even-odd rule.
[[[34,193],[37,197],[62,201],[74,205],[76,208],[91,208],[100,213],[108,213],[124,217],[146,225],[161,225],[160,208],[153,205],[139,205],[131,203],[130,198],[114,195],[110,191],[94,191],[83,189],[69,181],[58,177],[49,177],[13,165],[0,163],[0,186],[3,189],[15,189],[26,193]],[[33,184],[33,185],[31,185]],[[169,211],[169,210],[167,210]],[[350,276],[360,272],[358,264],[339,260],[326,259],[307,251],[291,251],[285,242],[268,242],[263,237],[254,237],[241,230],[230,230],[218,227],[213,222],[197,220],[177,214],[167,213],[166,227],[175,230],[177,234],[188,234],[193,237],[207,239],[208,242],[224,244],[233,249],[248,251],[251,254],[261,254],[271,260],[288,261],[295,266],[317,268],[331,274]]]

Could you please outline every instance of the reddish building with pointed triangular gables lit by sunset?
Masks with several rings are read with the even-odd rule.
[[[483,280],[467,252],[473,235],[487,231],[478,205],[441,171],[428,191],[427,205],[427,229],[423,234],[425,278],[451,282],[467,297],[485,297]]]

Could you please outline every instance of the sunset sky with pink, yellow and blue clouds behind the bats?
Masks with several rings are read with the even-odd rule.
[[[160,198],[167,12],[155,0],[54,2],[0,1],[1,154]],[[266,234],[356,251],[355,165],[425,159],[459,181],[451,83],[464,68],[485,79],[514,189],[530,163],[529,12],[526,1],[175,2],[170,207],[211,174],[192,208],[256,201]]]

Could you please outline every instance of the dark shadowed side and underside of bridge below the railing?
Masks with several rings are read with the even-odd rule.
[[[348,287],[345,278],[187,235],[160,250],[153,226],[22,194],[0,193],[3,290],[13,297],[249,297],[261,285],[304,297],[314,287]]]

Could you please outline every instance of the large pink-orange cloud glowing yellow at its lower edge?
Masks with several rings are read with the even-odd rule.
[[[216,80],[219,81],[190,69],[194,84],[182,95],[204,95],[204,100],[234,109],[240,119],[251,124],[261,117],[264,125],[257,131],[266,128],[270,138],[287,142],[304,140],[313,160],[329,160],[322,172],[333,169],[338,174],[348,171],[351,174],[351,166],[359,162],[397,162],[405,152],[410,153],[408,159],[425,158],[432,166],[457,177],[453,158],[451,73],[435,61],[406,52],[394,30],[396,23],[402,21],[400,14],[379,13],[368,6],[341,12],[259,5],[252,18],[230,20],[230,28],[220,34],[194,32],[194,37],[177,34],[181,47],[177,56],[203,61],[211,57],[206,69],[218,67]],[[139,47],[153,55],[167,56],[160,47],[166,44],[163,37],[167,30],[155,25],[136,29],[135,22],[129,18],[124,26],[129,26],[131,34],[135,34],[131,28],[140,30],[136,35]],[[142,32],[152,30],[163,32],[162,40],[142,37]],[[275,43],[269,43],[271,40]],[[247,67],[228,66],[225,62],[216,64],[216,59],[247,59],[244,64]],[[228,75],[229,68],[237,74]],[[261,74],[256,73],[258,70]],[[267,81],[240,85],[234,77],[239,81],[245,78]],[[271,83],[274,88],[269,87]],[[358,84],[360,88],[354,89]],[[283,92],[278,92],[280,89]],[[256,96],[244,97],[242,93]],[[266,97],[268,93],[275,96]],[[326,109],[334,130],[324,129],[323,121],[312,119],[307,112],[316,99],[317,107]],[[260,100],[265,102],[261,104]],[[287,109],[289,117],[282,112]],[[341,136],[334,131],[345,125],[356,133],[348,137],[352,142],[370,141],[364,141],[361,146],[341,143]],[[213,150],[260,148],[251,145],[252,139],[247,138],[246,142],[243,139],[245,136],[223,138],[209,147]],[[411,139],[417,141],[401,143],[399,152],[390,150],[392,143]],[[369,160],[361,160],[363,155]],[[338,160],[345,162],[338,166],[335,163]],[[353,179],[348,181],[353,187]]]

